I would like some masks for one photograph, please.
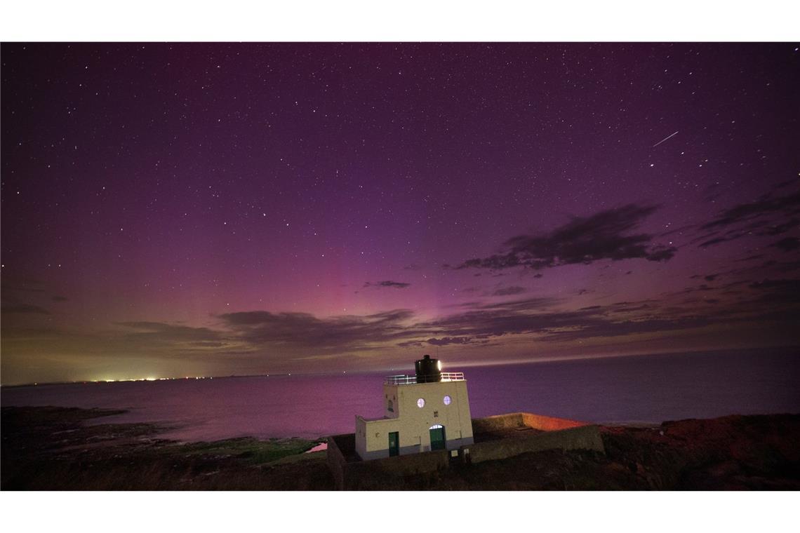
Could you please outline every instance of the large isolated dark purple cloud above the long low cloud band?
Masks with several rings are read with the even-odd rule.
[[[648,233],[633,233],[658,209],[655,205],[629,204],[590,217],[574,217],[550,233],[512,237],[502,253],[470,259],[456,268],[512,268],[539,270],[560,265],[588,265],[610,259],[667,261],[676,248],[652,243]]]

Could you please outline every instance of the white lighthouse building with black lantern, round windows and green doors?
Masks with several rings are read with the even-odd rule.
[[[384,380],[384,416],[355,417],[355,449],[362,459],[473,444],[464,374],[442,372],[442,364],[430,356],[414,367],[415,376]]]

